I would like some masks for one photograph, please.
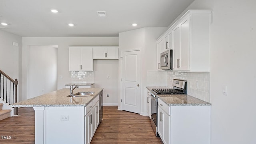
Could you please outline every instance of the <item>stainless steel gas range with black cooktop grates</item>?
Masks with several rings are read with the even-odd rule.
[[[151,126],[157,134],[157,96],[158,94],[187,94],[187,81],[174,79],[173,88],[153,88],[151,90]]]

